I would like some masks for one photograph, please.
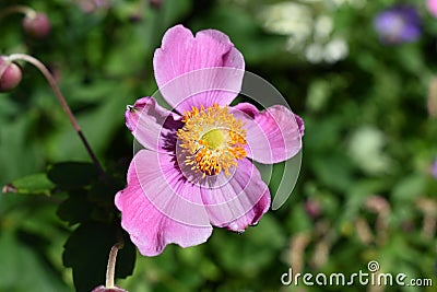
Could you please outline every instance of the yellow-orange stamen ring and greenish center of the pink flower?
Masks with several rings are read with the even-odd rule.
[[[185,126],[177,131],[185,164],[194,172],[216,175],[221,171],[229,175],[229,168],[246,157],[246,130],[241,120],[217,104],[196,106],[184,112]]]

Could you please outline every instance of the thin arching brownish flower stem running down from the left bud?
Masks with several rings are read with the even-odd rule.
[[[60,92],[58,85],[56,84],[54,77],[51,75],[51,73],[47,69],[47,67],[44,66],[44,63],[42,63],[38,59],[36,59],[29,55],[25,55],[25,54],[12,54],[8,57],[8,59],[10,61],[23,60],[28,63],[32,63],[33,66],[35,66],[35,68],[37,68],[43,73],[43,75],[46,78],[47,82],[49,83],[50,87],[55,92],[56,97],[58,97],[58,101],[61,104],[63,110],[66,112],[67,116],[69,117],[71,125],[73,125],[75,132],[79,135],[79,138],[81,139],[83,145],[85,147],[86,152],[88,153],[94,165],[97,167],[101,175],[104,175],[105,172],[104,172],[101,163],[98,162],[97,156],[94,154],[93,150],[91,149],[91,145],[90,145],[88,141],[86,140],[85,136],[83,135],[82,129],[78,124],[78,120],[75,119],[73,113],[70,109],[70,106],[68,105],[66,98],[63,97],[62,93]]]

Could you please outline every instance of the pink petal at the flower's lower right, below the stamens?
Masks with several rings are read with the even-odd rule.
[[[257,167],[246,159],[238,161],[227,180],[218,187],[202,188],[203,202],[213,225],[243,232],[269,210],[270,191]]]

